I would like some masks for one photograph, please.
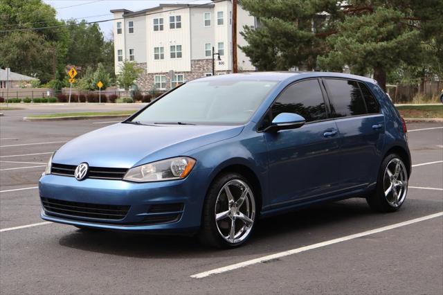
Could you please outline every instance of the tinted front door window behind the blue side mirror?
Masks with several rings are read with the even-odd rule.
[[[327,118],[325,101],[317,80],[306,80],[289,86],[272,106],[272,116],[280,113],[295,113],[306,122]]]

